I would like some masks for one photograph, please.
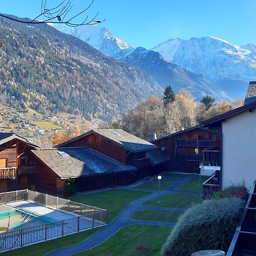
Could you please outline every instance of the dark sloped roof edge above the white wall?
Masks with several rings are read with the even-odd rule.
[[[234,115],[237,115],[246,111],[251,111],[254,108],[256,108],[256,101],[251,102],[250,104],[243,105],[240,108],[232,109],[228,112],[225,112],[224,114],[217,115],[216,117],[207,119],[201,122],[201,125],[202,126],[218,125],[220,122],[223,122],[226,118],[233,117]]]

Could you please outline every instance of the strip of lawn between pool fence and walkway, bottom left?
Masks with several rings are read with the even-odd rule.
[[[2,253],[0,255],[7,255],[7,256],[43,256],[49,253],[52,250],[64,247],[64,246],[69,246],[73,245],[74,243],[79,243],[86,238],[92,236],[92,234],[96,233],[98,230],[101,228],[97,229],[90,229],[85,232],[77,233],[77,234],[72,234],[70,236],[66,237],[61,237],[55,240],[47,241],[47,242],[42,242],[38,243],[36,245],[30,245],[23,247],[21,249],[13,250],[10,251],[9,253]]]

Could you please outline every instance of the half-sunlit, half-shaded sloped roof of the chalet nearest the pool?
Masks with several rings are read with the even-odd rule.
[[[63,147],[31,151],[60,179],[137,170],[134,166],[126,166],[89,147]],[[64,152],[65,154],[61,153],[64,156],[60,152]]]

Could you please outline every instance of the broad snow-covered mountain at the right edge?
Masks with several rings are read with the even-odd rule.
[[[253,44],[236,46],[206,36],[189,40],[170,39],[152,49],[168,61],[225,86],[228,94],[234,93],[233,89],[239,86],[241,97],[241,92],[246,92],[248,81],[256,79],[256,46]]]

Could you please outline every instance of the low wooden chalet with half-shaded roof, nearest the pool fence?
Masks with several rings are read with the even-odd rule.
[[[65,179],[75,179],[77,191],[127,185],[137,181],[137,168],[89,147],[31,150],[38,161],[39,191],[63,193]]]

